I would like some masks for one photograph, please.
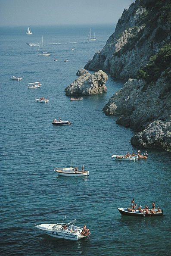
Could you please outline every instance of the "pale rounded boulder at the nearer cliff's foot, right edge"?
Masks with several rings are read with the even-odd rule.
[[[171,151],[171,122],[152,122],[144,131],[131,138],[131,144],[144,148],[162,148]]]

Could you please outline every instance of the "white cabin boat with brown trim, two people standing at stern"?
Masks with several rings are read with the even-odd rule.
[[[56,169],[54,169],[54,171],[57,172],[58,175],[61,175],[61,176],[76,177],[76,176],[88,176],[89,175],[89,171],[77,171],[73,167],[63,168],[63,169],[59,169],[56,167]]]

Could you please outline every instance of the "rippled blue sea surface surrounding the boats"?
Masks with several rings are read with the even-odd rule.
[[[89,25],[31,26],[32,35],[26,30],[0,27],[0,255],[170,255],[170,154],[149,149],[146,160],[111,157],[145,152],[131,145],[134,131],[102,110],[125,81],[108,74],[106,93],[83,101],[65,96],[65,87],[104,47],[115,25],[94,25],[96,41],[87,41]],[[42,36],[50,56],[37,56],[38,47],[27,44],[40,43]],[[37,81],[42,86],[28,90],[28,83]],[[49,103],[37,103],[42,96]],[[59,117],[72,125],[52,125]],[[82,165],[89,176],[62,177],[54,171]],[[117,208],[129,207],[133,198],[142,208],[155,201],[164,216],[121,216]],[[63,218],[86,224],[90,237],[56,239],[35,228]]]

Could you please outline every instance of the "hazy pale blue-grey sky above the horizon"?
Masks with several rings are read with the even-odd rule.
[[[0,0],[0,25],[116,23],[134,0]]]

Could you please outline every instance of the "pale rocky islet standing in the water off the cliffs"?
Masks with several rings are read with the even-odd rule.
[[[101,94],[107,91],[105,85],[107,80],[108,75],[102,70],[94,74],[87,73],[76,78],[73,83],[66,87],[65,93],[67,96]]]

